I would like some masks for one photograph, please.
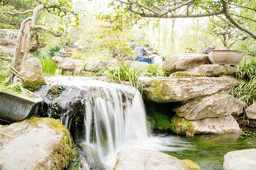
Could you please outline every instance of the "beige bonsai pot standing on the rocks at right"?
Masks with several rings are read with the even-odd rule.
[[[242,54],[234,53],[233,50],[210,50],[208,57],[212,64],[225,66],[237,66],[242,60]]]

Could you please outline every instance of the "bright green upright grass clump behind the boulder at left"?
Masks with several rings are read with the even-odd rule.
[[[52,58],[44,56],[44,58],[38,57],[38,59],[41,61],[43,73],[55,74],[55,71],[58,68],[58,66],[55,62],[52,61]]]

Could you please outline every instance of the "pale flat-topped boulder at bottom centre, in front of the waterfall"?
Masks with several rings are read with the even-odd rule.
[[[116,157],[115,170],[187,170],[201,168],[187,159],[177,159],[174,156],[153,150],[129,148],[121,150]]]

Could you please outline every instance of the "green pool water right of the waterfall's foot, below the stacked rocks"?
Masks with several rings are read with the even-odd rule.
[[[190,159],[203,170],[223,170],[224,155],[242,150],[256,149],[255,132],[245,134],[227,133],[212,135],[197,135],[194,137],[180,136],[182,143],[177,144],[175,151],[165,152],[178,159]],[[166,134],[166,137],[176,134]],[[180,147],[180,149],[178,149]]]

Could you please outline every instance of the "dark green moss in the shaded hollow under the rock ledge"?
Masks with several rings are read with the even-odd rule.
[[[171,119],[166,115],[154,112],[152,113],[152,119],[155,121],[155,129],[167,130],[171,128]]]

